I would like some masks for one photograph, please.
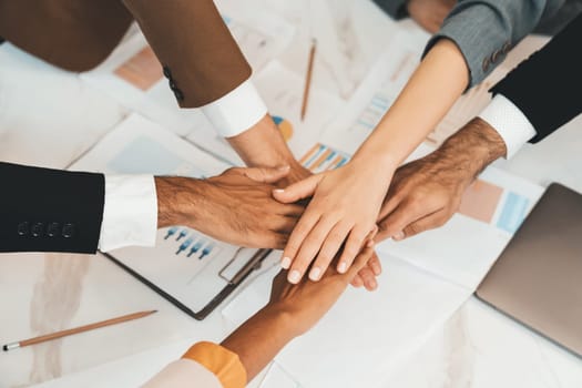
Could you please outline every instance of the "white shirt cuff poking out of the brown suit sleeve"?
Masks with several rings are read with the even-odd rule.
[[[241,134],[267,114],[267,106],[251,80],[201,109],[223,137]]]

